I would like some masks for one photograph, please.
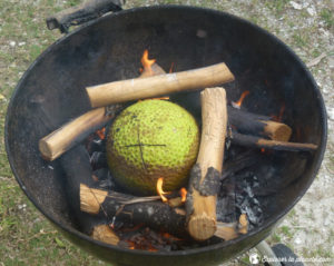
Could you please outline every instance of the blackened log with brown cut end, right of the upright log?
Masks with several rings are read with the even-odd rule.
[[[228,107],[228,122],[240,134],[267,137],[288,141],[292,129],[285,124],[269,120],[269,117]]]

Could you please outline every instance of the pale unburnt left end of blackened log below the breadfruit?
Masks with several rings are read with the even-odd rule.
[[[89,188],[80,184],[80,210],[88,214],[98,214],[108,193],[100,189]]]

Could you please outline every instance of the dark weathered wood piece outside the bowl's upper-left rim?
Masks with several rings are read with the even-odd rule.
[[[125,0],[86,0],[84,3],[62,10],[47,18],[49,30],[68,32],[70,26],[81,24],[109,11],[120,11]]]

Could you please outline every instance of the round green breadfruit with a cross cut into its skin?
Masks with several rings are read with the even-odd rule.
[[[107,159],[118,185],[137,195],[185,186],[199,146],[194,117],[165,100],[144,100],[126,108],[107,136]]]

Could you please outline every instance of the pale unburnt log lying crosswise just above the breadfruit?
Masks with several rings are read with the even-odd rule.
[[[128,79],[86,88],[91,107],[126,102],[185,90],[198,90],[234,80],[222,62],[209,67],[159,75],[145,79]]]

